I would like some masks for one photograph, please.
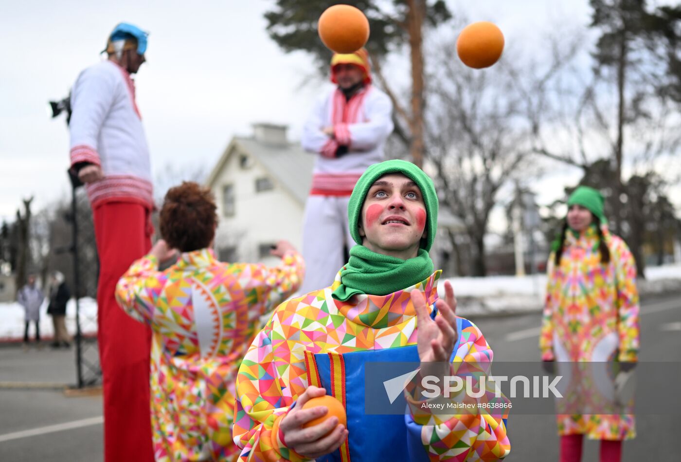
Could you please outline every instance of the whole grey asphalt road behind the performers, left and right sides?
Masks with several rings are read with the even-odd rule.
[[[681,298],[642,308],[642,360],[681,361]],[[494,348],[495,361],[536,360],[539,316],[474,320]],[[73,351],[0,348],[0,461],[97,462],[102,457],[101,397],[67,397],[59,388],[27,385],[75,382]],[[7,383],[12,382],[12,383]],[[9,388],[25,382],[22,388]],[[624,461],[678,461],[678,417],[637,416],[639,436],[624,445]],[[511,416],[507,461],[557,461],[553,416]],[[587,442],[584,461],[598,460]],[[131,459],[132,460],[132,459]]]

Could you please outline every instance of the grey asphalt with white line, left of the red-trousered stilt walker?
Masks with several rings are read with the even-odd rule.
[[[101,397],[63,392],[76,382],[74,358],[74,350],[0,348],[0,461],[103,459]]]

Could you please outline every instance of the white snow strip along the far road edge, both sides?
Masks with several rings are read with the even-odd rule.
[[[681,290],[681,264],[650,266],[646,268],[645,281],[639,280],[639,292],[644,295]],[[492,315],[522,313],[541,309],[545,275],[452,277],[460,315]],[[439,283],[440,296],[444,296],[444,281]],[[46,314],[43,304],[40,316],[40,335],[52,337],[52,317]],[[93,298],[80,299],[80,326],[84,334],[97,333],[97,303]],[[76,301],[70,300],[66,308],[66,327],[76,334]],[[33,326],[29,330],[33,339]],[[22,339],[24,336],[24,309],[18,303],[0,303],[0,341]]]

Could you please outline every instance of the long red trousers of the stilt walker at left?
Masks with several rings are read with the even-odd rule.
[[[154,461],[149,401],[151,330],[130,318],[114,297],[118,279],[151,248],[149,215],[144,206],[128,202],[109,202],[94,210],[106,462]]]

